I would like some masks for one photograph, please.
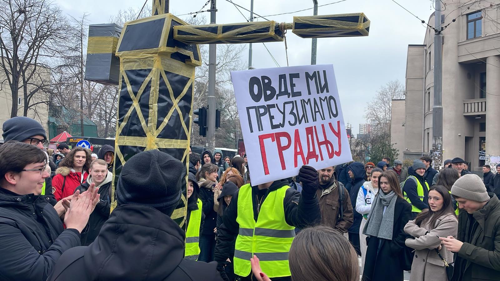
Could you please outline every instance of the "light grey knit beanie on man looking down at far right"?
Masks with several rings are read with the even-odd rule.
[[[489,200],[488,192],[477,174],[464,174],[451,187],[451,195],[476,202]]]

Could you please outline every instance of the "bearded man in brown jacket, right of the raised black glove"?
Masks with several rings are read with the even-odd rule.
[[[332,166],[320,169],[317,173],[319,188],[316,196],[321,210],[321,224],[346,233],[354,220],[349,192],[336,180]]]

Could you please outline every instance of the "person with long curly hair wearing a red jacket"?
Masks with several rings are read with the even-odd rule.
[[[52,178],[52,192],[57,201],[73,194],[85,182],[91,162],[90,150],[86,148],[77,146],[67,153]]]

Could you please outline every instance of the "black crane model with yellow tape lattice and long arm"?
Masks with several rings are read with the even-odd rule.
[[[167,12],[168,0],[153,0],[152,10],[151,16],[126,22],[123,28],[88,28],[85,80],[119,89],[113,196],[121,167],[140,151],[169,153],[187,171],[194,68],[201,65],[198,44],[279,42],[286,29],[302,38],[366,36],[370,24],[363,13],[348,13],[294,16],[292,23],[187,25]],[[181,202],[172,214],[181,227],[186,183],[184,172]]]

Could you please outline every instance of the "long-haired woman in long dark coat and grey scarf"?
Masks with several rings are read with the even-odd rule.
[[[411,205],[401,193],[392,170],[378,176],[378,193],[371,202],[368,220],[362,229],[366,257],[362,280],[403,280],[404,225],[411,219]]]

